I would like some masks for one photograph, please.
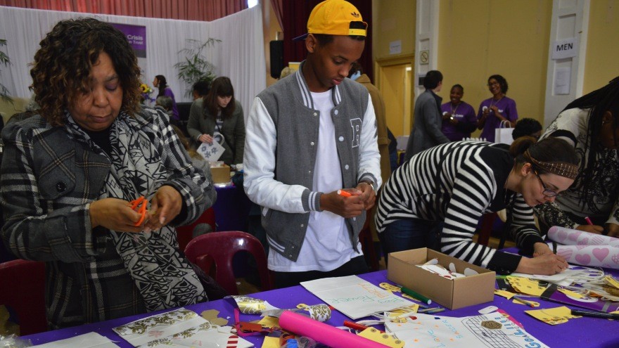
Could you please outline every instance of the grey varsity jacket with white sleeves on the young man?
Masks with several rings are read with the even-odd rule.
[[[322,194],[312,190],[319,111],[314,110],[302,65],[254,99],[243,159],[243,186],[250,200],[262,206],[262,225],[269,246],[292,261],[298,258],[305,240],[309,212],[320,210]],[[376,190],[381,186],[381,156],[369,93],[350,79],[334,86],[331,93],[337,143],[333,150],[340,157],[343,186],[355,187],[369,179]],[[347,219],[355,248],[364,221],[365,212]]]

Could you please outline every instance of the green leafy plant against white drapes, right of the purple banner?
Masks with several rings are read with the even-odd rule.
[[[215,79],[216,76],[213,73],[215,65],[206,60],[203,53],[207,47],[222,42],[222,40],[209,38],[205,42],[195,39],[187,39],[186,41],[189,47],[179,51],[179,54],[184,54],[184,60],[174,64],[174,67],[179,70],[178,78],[189,85],[189,88],[186,90],[186,96],[191,96],[193,84],[198,81],[210,83]]]

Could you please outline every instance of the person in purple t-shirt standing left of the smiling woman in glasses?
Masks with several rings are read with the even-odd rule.
[[[464,87],[454,84],[449,91],[449,102],[440,105],[442,113],[442,134],[450,141],[461,141],[471,136],[471,131],[477,127],[475,109],[462,101]]]

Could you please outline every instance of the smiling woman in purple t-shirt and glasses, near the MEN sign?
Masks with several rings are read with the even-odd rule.
[[[502,121],[509,122],[509,126],[516,125],[518,111],[516,102],[505,96],[507,81],[501,75],[492,75],[488,78],[488,89],[492,98],[486,99],[479,105],[477,113],[477,128],[483,129],[480,137],[494,143],[494,129],[501,126]]]

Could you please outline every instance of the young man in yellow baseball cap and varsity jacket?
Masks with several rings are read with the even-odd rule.
[[[262,206],[278,288],[364,273],[359,231],[381,185],[368,91],[345,79],[367,24],[347,1],[312,10],[299,70],[255,98],[245,138],[245,192]]]

